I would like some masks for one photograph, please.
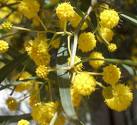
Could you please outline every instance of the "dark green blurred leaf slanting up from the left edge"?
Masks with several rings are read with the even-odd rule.
[[[14,69],[18,68],[27,58],[26,54],[21,54],[7,65],[0,69],[0,82],[2,82]]]

